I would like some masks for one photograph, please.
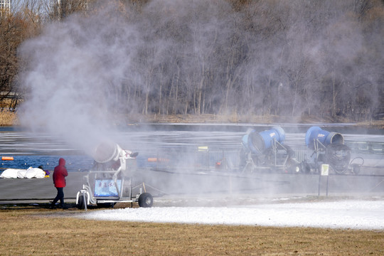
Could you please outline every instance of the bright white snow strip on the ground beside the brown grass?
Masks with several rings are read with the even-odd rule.
[[[179,204],[175,201],[175,205]],[[242,206],[230,204],[218,207],[161,206],[161,203],[159,205],[152,208],[94,210],[81,214],[80,218],[153,223],[384,230],[383,196],[299,201],[277,198]]]

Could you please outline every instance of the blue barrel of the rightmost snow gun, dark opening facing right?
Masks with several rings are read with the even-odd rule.
[[[305,144],[309,149],[314,149],[316,140],[324,146],[328,146],[329,144],[344,144],[344,137],[338,132],[328,132],[320,127],[311,127],[306,131]]]

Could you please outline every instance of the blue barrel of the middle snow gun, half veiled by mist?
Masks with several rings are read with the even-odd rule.
[[[274,140],[279,143],[284,142],[285,133],[282,127],[272,127],[272,129],[262,132],[256,132],[255,129],[242,137],[242,145],[252,154],[263,154],[265,150],[270,149]]]

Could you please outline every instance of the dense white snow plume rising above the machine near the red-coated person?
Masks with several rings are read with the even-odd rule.
[[[28,63],[21,73],[27,91],[21,124],[85,151],[111,135],[116,81],[125,78],[138,43],[134,28],[108,3],[87,18],[73,15],[46,26],[19,48]]]

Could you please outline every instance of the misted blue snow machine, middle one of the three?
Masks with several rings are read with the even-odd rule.
[[[262,132],[250,129],[242,137],[240,171],[297,171],[299,162],[291,147],[284,144],[284,139],[282,127]]]

